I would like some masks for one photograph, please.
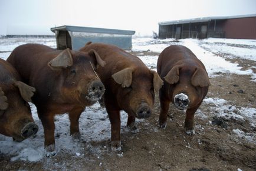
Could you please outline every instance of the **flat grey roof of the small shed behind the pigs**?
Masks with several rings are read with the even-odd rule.
[[[119,30],[119,29],[105,29],[105,28],[92,28],[83,26],[70,26],[63,25],[51,28],[52,32],[55,31],[71,31],[71,32],[87,32],[87,33],[109,33],[117,35],[134,35],[135,31]]]

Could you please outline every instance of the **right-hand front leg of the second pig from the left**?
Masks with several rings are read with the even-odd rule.
[[[79,118],[84,108],[76,108],[68,113],[70,118],[70,135],[74,139],[81,140],[81,135],[79,131]]]

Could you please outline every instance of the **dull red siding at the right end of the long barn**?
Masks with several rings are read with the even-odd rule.
[[[228,19],[224,30],[226,38],[256,39],[256,17]]]

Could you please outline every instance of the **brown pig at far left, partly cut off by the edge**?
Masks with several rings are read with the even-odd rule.
[[[21,82],[18,72],[0,59],[0,133],[21,142],[37,133],[28,102],[35,88]]]

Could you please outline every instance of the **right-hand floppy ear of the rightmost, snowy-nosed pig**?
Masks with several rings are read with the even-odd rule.
[[[196,71],[195,73],[193,73],[193,76],[191,78],[191,83],[193,86],[201,87],[211,85],[206,71],[202,68],[196,68]]]

